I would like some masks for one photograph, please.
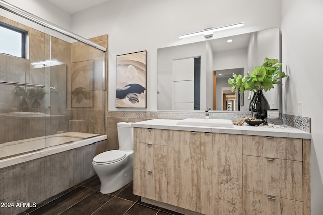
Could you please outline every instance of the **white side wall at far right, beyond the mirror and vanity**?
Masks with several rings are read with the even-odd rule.
[[[283,113],[311,118],[311,214],[323,211],[323,1],[282,0]]]

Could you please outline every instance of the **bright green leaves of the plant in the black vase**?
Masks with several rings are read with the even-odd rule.
[[[282,84],[279,79],[287,77],[282,71],[280,73],[280,66],[277,59],[265,58],[264,63],[261,66],[257,66],[253,69],[251,75],[247,73],[243,78],[241,75],[233,74],[233,79],[228,79],[228,83],[232,85],[232,91],[239,89],[242,94],[246,90],[268,91],[274,88],[274,84]]]

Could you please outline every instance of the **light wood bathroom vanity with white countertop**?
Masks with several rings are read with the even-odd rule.
[[[310,133],[295,128],[134,127],[134,194],[184,214],[310,214]]]

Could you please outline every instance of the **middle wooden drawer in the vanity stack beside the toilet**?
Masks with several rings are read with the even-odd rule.
[[[167,173],[167,146],[135,142],[134,147],[135,168]]]

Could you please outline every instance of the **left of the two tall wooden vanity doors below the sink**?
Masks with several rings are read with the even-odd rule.
[[[167,131],[167,203],[201,211],[199,132]]]

